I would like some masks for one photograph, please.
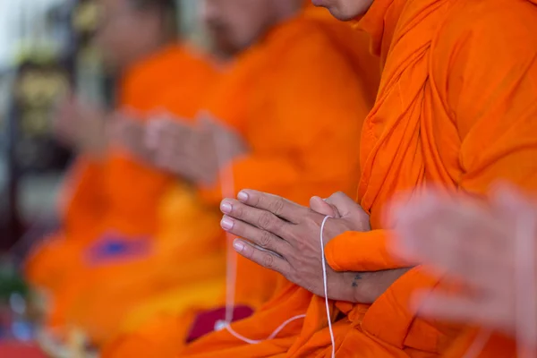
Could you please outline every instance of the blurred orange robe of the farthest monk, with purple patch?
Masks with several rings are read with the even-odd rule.
[[[166,110],[192,120],[216,79],[216,69],[205,58],[190,48],[170,45],[125,72],[118,109],[129,108],[141,118]],[[194,188],[176,183],[174,175],[114,143],[102,162],[78,160],[64,195],[61,232],[40,244],[26,267],[30,283],[52,295],[52,327],[81,328],[99,344],[113,336],[127,312],[150,294],[209,277],[218,277],[222,285],[219,271],[225,261],[218,244],[217,210],[206,209]],[[163,212],[169,211],[163,200],[170,191],[183,198],[173,211],[175,221],[187,227],[176,237],[158,233]],[[106,236],[132,244],[132,254],[115,255],[122,249],[112,245],[110,254],[99,256],[98,245]],[[180,248],[193,238],[198,246]],[[170,270],[178,261],[195,265],[192,253],[205,255],[203,268]]]

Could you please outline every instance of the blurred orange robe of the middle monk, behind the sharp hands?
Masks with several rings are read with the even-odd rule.
[[[314,194],[355,191],[356,138],[379,84],[379,62],[368,45],[364,33],[309,7],[236,59],[207,108],[251,149],[229,166],[235,194],[252,188],[307,205]],[[200,190],[206,202],[218,206],[219,183]],[[238,259],[236,304],[256,309],[285,285],[274,272]],[[192,316],[154,321],[108,346],[103,356],[182,356],[191,323]]]

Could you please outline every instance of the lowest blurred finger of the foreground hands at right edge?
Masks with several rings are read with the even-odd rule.
[[[420,315],[437,320],[465,324],[473,322],[492,328],[498,327],[497,318],[501,316],[501,307],[494,309],[485,298],[440,293],[415,294],[413,308]]]

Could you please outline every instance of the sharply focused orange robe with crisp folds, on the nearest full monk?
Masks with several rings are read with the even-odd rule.
[[[358,22],[371,34],[372,50],[382,64],[379,96],[362,130],[358,188],[372,230],[345,233],[328,243],[332,268],[402,266],[388,254],[393,223],[381,218],[396,192],[437,183],[448,191],[484,195],[499,179],[537,189],[535,19],[534,0],[374,1]],[[462,328],[423,320],[409,309],[416,288],[439,285],[438,277],[417,267],[371,305],[332,303],[337,356],[447,354]],[[181,356],[329,357],[324,299],[298,286],[287,286],[233,328],[248,338],[265,339],[303,313],[303,322],[287,326],[276,339],[248,345],[222,330],[193,343]]]

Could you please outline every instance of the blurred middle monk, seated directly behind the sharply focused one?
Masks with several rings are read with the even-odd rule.
[[[205,6],[215,42],[240,54],[197,125],[149,124],[149,142],[162,144],[158,163],[197,183],[215,208],[223,192],[235,195],[244,186],[303,204],[318,192],[354,192],[356,138],[379,80],[365,34],[302,0],[207,0]],[[227,288],[234,299],[228,303],[239,317],[244,306],[257,311],[288,286],[276,272],[243,258],[236,276],[230,272]],[[221,298],[220,307],[195,320],[191,315],[152,320],[109,345],[103,356],[183,356],[185,341],[199,337],[198,326],[212,330],[214,318],[225,319],[224,293]]]

